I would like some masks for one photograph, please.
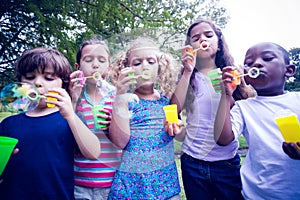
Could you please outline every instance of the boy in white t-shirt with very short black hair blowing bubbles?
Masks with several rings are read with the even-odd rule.
[[[300,93],[284,91],[286,77],[293,76],[295,66],[290,64],[288,52],[274,43],[249,48],[244,64],[246,70],[260,70],[257,78],[245,78],[257,91],[257,97],[238,101],[230,110],[228,101],[234,88],[228,87],[232,76],[227,71],[233,68],[224,68],[226,90],[216,116],[215,139],[220,145],[228,145],[244,134],[249,145],[241,168],[245,199],[299,199],[300,162],[284,153],[283,137],[275,122],[282,109],[300,117]]]

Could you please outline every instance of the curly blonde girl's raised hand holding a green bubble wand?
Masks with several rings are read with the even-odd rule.
[[[129,86],[136,83],[137,77],[129,76],[130,73],[134,73],[134,70],[131,67],[126,67],[121,70],[116,83],[117,95],[125,94],[128,91]]]

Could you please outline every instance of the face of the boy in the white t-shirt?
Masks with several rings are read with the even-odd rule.
[[[246,82],[251,84],[259,95],[282,93],[287,65],[284,62],[283,53],[276,45],[260,43],[251,47],[246,53],[244,64],[260,70],[259,76],[255,79],[245,77]]]

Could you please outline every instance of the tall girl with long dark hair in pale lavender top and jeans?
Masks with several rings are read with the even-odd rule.
[[[242,199],[238,140],[223,147],[215,143],[213,127],[220,93],[216,93],[207,73],[233,65],[224,36],[208,20],[198,20],[187,32],[187,48],[198,49],[196,55],[184,53],[183,73],[171,99],[180,113],[186,108],[186,136],[182,145],[181,170],[187,199]],[[185,50],[184,49],[184,50]],[[244,83],[235,98],[252,95]],[[231,98],[234,104],[234,98]]]

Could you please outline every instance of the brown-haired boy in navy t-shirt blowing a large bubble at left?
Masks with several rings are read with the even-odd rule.
[[[0,135],[19,140],[19,152],[3,172],[1,199],[74,199],[74,150],[97,159],[100,144],[73,111],[72,68],[59,51],[43,47],[24,52],[15,66],[18,81],[57,101],[41,98],[36,109],[1,122]]]

